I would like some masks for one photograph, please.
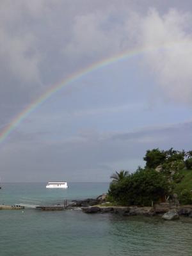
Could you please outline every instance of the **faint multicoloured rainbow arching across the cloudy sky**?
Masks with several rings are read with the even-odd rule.
[[[170,42],[168,44],[161,45],[160,47],[145,47],[143,49],[133,49],[131,51],[124,51],[119,54],[115,54],[110,58],[106,58],[104,60],[97,61],[95,63],[92,63],[92,65],[85,67],[81,70],[78,70],[77,72],[74,72],[70,74],[67,78],[60,81],[60,83],[54,84],[51,86],[46,92],[42,93],[40,97],[33,100],[23,111],[19,113],[19,115],[16,115],[13,120],[4,127],[3,131],[0,133],[0,143],[2,143],[8,135],[27,117],[29,116],[33,111],[35,111],[36,108],[38,108],[42,103],[45,102],[45,100],[49,99],[52,94],[60,91],[64,86],[67,86],[69,84],[72,84],[74,81],[77,81],[78,79],[81,79],[81,77],[86,76],[86,74],[89,74],[90,72],[93,72],[95,70],[99,70],[100,68],[104,68],[108,65],[111,65],[112,63],[115,63],[116,61],[125,60],[127,58],[131,58],[133,56],[137,56],[138,54],[142,53],[148,53],[153,51],[161,51],[161,50],[167,50],[171,49],[172,45],[178,44],[178,42]]]

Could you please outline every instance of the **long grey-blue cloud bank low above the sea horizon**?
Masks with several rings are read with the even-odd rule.
[[[20,142],[10,141],[2,148],[3,177],[4,180],[12,177],[17,181],[44,181],[65,175],[67,180],[107,181],[114,170],[135,170],[143,165],[148,148],[191,149],[191,129],[192,122],[186,122],[129,133],[90,131],[58,142],[29,140],[24,136]]]

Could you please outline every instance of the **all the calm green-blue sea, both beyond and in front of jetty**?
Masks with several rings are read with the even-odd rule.
[[[58,204],[108,191],[107,183],[72,183],[45,189],[44,183],[3,184],[0,204]],[[0,211],[0,256],[191,256],[192,220],[122,217],[67,210]]]

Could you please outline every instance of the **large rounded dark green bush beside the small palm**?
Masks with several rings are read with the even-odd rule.
[[[111,182],[109,196],[122,205],[151,205],[168,193],[169,186],[162,173],[140,170],[120,182]]]

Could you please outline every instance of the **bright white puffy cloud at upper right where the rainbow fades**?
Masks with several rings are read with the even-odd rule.
[[[192,16],[170,10],[165,15],[151,9],[146,17],[138,20],[141,47],[158,48],[144,54],[148,72],[168,100],[192,103]]]

